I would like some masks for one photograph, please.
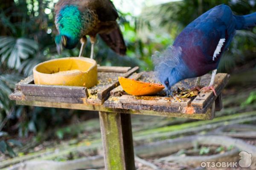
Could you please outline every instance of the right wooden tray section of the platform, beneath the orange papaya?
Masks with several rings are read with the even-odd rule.
[[[134,73],[131,78],[144,82],[158,83],[152,71]],[[206,74],[201,79],[201,85],[208,85],[211,79],[210,74]],[[166,97],[162,91],[154,96],[131,96],[123,91],[121,86],[114,88],[110,92],[110,97],[104,102],[107,108],[119,108],[138,111],[138,114],[145,113],[158,116],[177,116],[189,117],[193,119],[213,119],[215,109],[221,110],[222,96],[221,91],[227,84],[228,74],[217,74],[215,77],[215,91],[218,97],[215,97],[212,91],[199,93],[192,99],[180,99],[177,101],[173,97]],[[192,88],[195,85],[196,78],[185,79],[172,87],[172,90],[179,88]],[[154,111],[155,113],[152,113]]]

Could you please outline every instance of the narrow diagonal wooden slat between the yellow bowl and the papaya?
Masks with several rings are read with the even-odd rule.
[[[135,71],[138,71],[139,67],[134,67],[131,70],[129,70],[127,73],[122,75],[122,77],[129,77],[131,74],[133,74]],[[109,96],[109,92],[113,89],[119,86],[119,81],[113,82],[110,85],[106,85],[105,88],[103,88],[101,91],[98,92],[97,96],[99,99],[103,99]]]

